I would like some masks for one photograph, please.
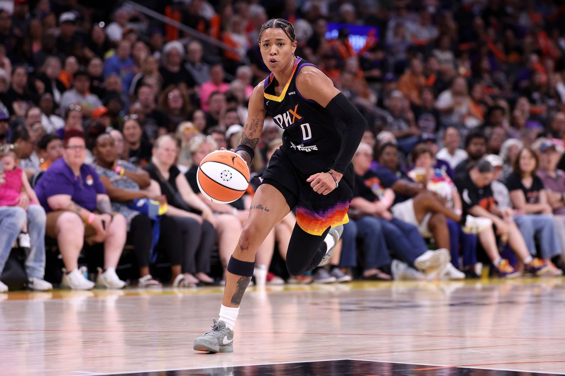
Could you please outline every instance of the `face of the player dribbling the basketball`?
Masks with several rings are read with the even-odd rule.
[[[265,29],[261,34],[261,56],[267,68],[273,73],[285,71],[292,64],[297,42],[291,42],[280,28]]]

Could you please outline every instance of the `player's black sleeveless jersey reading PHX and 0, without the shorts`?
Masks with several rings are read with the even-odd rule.
[[[284,129],[281,151],[299,172],[312,174],[331,168],[340,151],[345,124],[298,92],[296,77],[306,65],[316,66],[296,58],[292,76],[278,97],[271,85],[273,73],[265,78],[263,105],[267,115]]]

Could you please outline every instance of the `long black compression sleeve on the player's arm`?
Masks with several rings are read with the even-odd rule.
[[[344,173],[355,155],[355,151],[357,151],[361,138],[363,138],[363,133],[367,128],[367,120],[343,93],[333,97],[325,106],[325,109],[345,124],[340,152],[332,165],[333,170]]]

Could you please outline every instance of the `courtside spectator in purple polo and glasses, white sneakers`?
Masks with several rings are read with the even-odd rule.
[[[94,282],[77,269],[84,241],[104,243],[104,271],[98,285],[123,288],[116,266],[124,249],[126,221],[113,214],[106,189],[94,168],[84,164],[84,135],[78,130],[65,133],[63,158],[56,160],[38,181],[35,191],[47,213],[46,235],[57,239],[66,274],[62,287],[89,290]]]

